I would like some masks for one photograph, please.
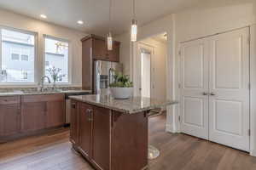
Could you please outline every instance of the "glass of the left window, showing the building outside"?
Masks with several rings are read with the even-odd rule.
[[[0,34],[0,82],[34,82],[35,35],[5,28]]]

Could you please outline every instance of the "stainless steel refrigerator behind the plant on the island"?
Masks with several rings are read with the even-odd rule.
[[[95,93],[110,94],[109,84],[113,82],[113,70],[123,72],[123,65],[116,62],[96,60],[94,68]]]

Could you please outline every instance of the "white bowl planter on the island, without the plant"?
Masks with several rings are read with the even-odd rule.
[[[129,99],[133,94],[133,88],[110,88],[114,99]]]

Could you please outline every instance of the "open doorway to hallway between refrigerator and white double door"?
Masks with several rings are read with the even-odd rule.
[[[135,96],[166,99],[166,32],[147,37],[135,45]]]

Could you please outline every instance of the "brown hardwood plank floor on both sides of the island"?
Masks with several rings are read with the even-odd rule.
[[[256,157],[240,150],[185,134],[165,132],[165,116],[149,118],[149,143],[160,157],[149,161],[150,170],[253,170]],[[90,170],[71,150],[67,128],[7,144],[0,144],[0,170]]]

